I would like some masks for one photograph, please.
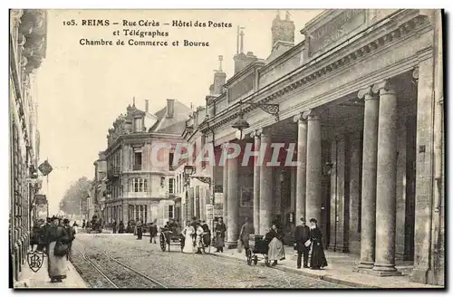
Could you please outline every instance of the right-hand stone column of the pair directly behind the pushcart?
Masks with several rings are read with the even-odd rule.
[[[269,130],[264,130],[261,133],[261,145],[260,158],[263,160],[263,165],[260,170],[260,187],[259,187],[259,234],[265,235],[265,233],[271,227],[271,220],[273,215],[273,172],[272,167],[267,166],[267,162],[271,159],[272,148],[271,148],[271,135]],[[264,155],[262,155],[264,154]]]

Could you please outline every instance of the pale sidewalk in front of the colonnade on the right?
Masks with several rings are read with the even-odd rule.
[[[323,270],[310,270],[307,268],[297,269],[296,268],[296,257],[294,256],[294,248],[292,246],[284,246],[284,253],[286,254],[286,260],[280,261],[275,269],[301,273],[304,276],[321,279],[323,281],[331,283],[339,283],[352,287],[360,288],[387,288],[387,289],[441,289],[443,287],[423,284],[423,283],[412,283],[410,282],[409,274],[411,271],[410,266],[404,266],[404,263],[397,263],[397,269],[403,273],[401,276],[388,276],[380,277],[364,273],[358,273],[356,263],[359,258],[351,254],[333,253],[324,251],[327,258],[328,267]],[[243,261],[246,265],[246,255],[243,251],[242,254],[237,253],[236,249],[225,250],[224,253],[216,253],[215,255],[220,257],[228,257],[236,260]],[[258,255],[260,256],[260,255]],[[259,261],[257,265],[264,265],[264,261]],[[271,268],[269,268],[271,269]]]

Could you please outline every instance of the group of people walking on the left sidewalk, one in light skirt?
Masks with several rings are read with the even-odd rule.
[[[32,250],[47,254],[47,272],[52,283],[61,283],[66,278],[67,263],[71,256],[72,241],[77,223],[62,217],[52,216],[37,220],[32,229]]]

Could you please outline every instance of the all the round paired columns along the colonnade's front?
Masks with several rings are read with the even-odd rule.
[[[378,96],[379,95],[379,96]],[[364,99],[363,161],[361,188],[361,263],[360,268],[379,275],[395,275],[396,172],[397,172],[397,96],[389,81],[369,86],[358,94]],[[322,150],[321,120],[315,110],[294,117],[298,124],[296,219],[321,218]],[[262,162],[269,154],[271,135],[265,129],[252,133]],[[379,148],[379,149],[378,149]],[[263,155],[264,154],[264,155]],[[228,159],[224,168],[227,185],[224,217],[228,242],[238,235],[237,159]],[[265,234],[273,212],[272,168],[254,170],[255,232]]]

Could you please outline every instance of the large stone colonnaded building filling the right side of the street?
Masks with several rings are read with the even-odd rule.
[[[248,144],[265,161],[221,167],[228,244],[244,216],[261,235],[316,218],[325,247],[360,254],[361,272],[398,275],[405,260],[414,282],[444,284],[441,22],[435,10],[326,10],[294,44],[276,16],[267,59],[238,50],[198,126],[217,157]]]

